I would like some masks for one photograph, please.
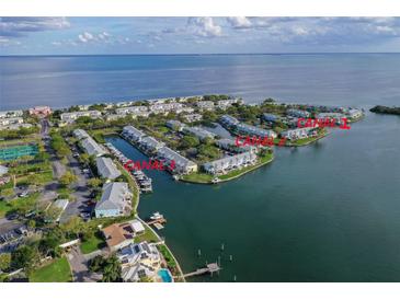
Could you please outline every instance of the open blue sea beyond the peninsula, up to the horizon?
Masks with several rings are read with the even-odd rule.
[[[228,93],[256,102],[400,102],[400,55],[0,57],[0,109]]]

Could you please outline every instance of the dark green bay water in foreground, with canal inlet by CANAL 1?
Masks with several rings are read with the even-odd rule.
[[[276,149],[271,164],[220,185],[149,171],[155,193],[141,196],[139,215],[167,217],[160,235],[184,273],[220,259],[219,276],[191,280],[399,281],[399,126],[368,114],[315,145]]]

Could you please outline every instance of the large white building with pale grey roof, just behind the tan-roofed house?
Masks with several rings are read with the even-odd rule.
[[[96,218],[121,217],[130,212],[133,194],[124,182],[113,182],[103,185],[103,194],[94,208]]]

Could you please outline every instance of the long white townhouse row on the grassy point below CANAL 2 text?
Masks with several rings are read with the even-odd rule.
[[[203,169],[213,175],[226,174],[230,171],[252,165],[256,162],[256,154],[248,151],[232,157],[226,157],[224,159],[206,162],[203,164]]]

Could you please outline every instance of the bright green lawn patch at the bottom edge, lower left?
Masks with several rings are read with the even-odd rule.
[[[71,269],[66,257],[55,259],[34,270],[30,276],[31,282],[68,282],[71,280]]]

